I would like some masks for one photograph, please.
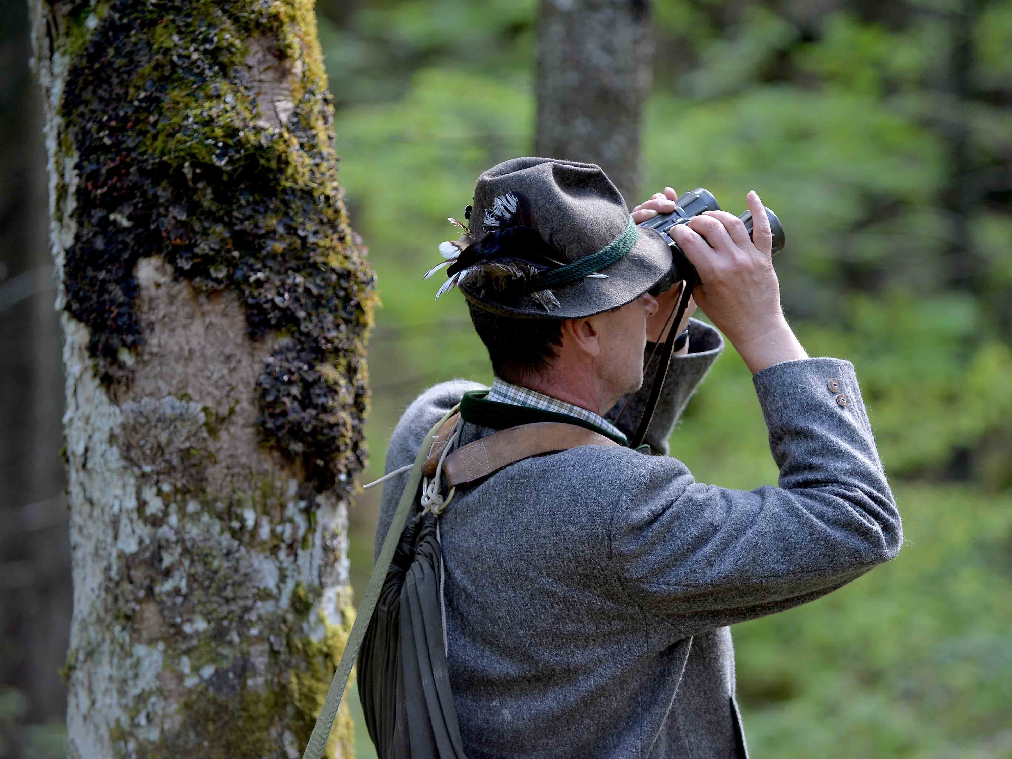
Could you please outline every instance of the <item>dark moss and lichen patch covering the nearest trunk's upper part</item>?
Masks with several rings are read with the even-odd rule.
[[[337,182],[312,2],[115,0],[95,20],[64,95],[65,153],[85,188],[65,281],[103,376],[130,382],[143,340],[134,266],[162,255],[201,290],[236,290],[253,339],[287,338],[249,389],[262,437],[318,490],[350,481],[365,456],[374,281]],[[244,63],[253,40],[301,72],[280,129]]]

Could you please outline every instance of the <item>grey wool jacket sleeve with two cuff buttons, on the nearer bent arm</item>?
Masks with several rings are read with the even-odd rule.
[[[639,456],[612,521],[625,591],[680,637],[825,595],[900,550],[903,528],[848,361],[754,377],[779,487],[728,490]],[[629,473],[630,475],[632,473]]]

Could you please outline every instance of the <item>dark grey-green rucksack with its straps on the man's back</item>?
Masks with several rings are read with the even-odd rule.
[[[446,663],[439,516],[457,487],[516,461],[579,445],[617,445],[584,427],[537,422],[454,449],[461,425],[453,407],[429,430],[414,465],[372,483],[411,470],[303,759],[323,756],[356,657],[378,759],[465,759]]]

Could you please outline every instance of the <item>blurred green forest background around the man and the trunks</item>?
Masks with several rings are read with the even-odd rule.
[[[60,339],[23,0],[0,13],[0,756],[57,757],[71,597]],[[777,212],[788,318],[811,354],[856,364],[908,537],[842,591],[736,627],[750,749],[1012,757],[1012,3],[657,0],[652,13],[626,199],[704,186],[737,214],[756,189]],[[368,481],[419,391],[491,380],[462,299],[434,303],[421,274],[477,175],[533,150],[538,6],[320,0],[318,15],[341,181],[384,304]],[[672,451],[703,482],[775,482],[730,346]],[[375,501],[351,514],[358,588]],[[373,755],[364,731],[358,743]]]

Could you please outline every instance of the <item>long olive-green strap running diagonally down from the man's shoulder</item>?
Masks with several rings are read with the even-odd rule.
[[[454,406],[447,412],[446,416],[436,422],[436,425],[429,430],[429,434],[426,435],[425,440],[434,441],[434,438],[443,425],[456,415],[456,409],[457,407]],[[449,438],[447,437],[447,439]],[[443,447],[445,447],[445,442],[443,443]],[[365,592],[362,593],[362,602],[358,605],[355,623],[351,626],[351,632],[348,634],[348,640],[344,644],[344,651],[341,652],[341,661],[337,664],[337,671],[334,673],[334,679],[330,682],[327,698],[324,700],[323,706],[320,709],[320,716],[317,718],[317,723],[313,727],[313,733],[310,735],[310,741],[306,746],[306,751],[303,753],[303,759],[321,759],[324,750],[327,748],[327,739],[330,738],[331,728],[334,727],[334,719],[337,716],[337,709],[341,705],[344,688],[348,684],[351,668],[358,657],[358,650],[362,646],[362,639],[365,638],[365,630],[369,626],[372,612],[375,611],[376,602],[380,600],[380,591],[383,589],[384,580],[387,578],[387,570],[390,569],[390,564],[394,560],[394,552],[397,549],[398,541],[401,539],[401,533],[404,532],[404,525],[408,521],[408,515],[411,513],[412,506],[414,505],[418,486],[422,482],[422,466],[428,458],[431,448],[431,444],[426,445],[425,441],[422,441],[418,455],[415,457],[415,465],[411,468],[408,484],[404,487],[401,501],[397,506],[397,511],[394,513],[394,520],[387,531],[383,550],[380,552],[375,567],[372,569],[369,583],[365,586]]]

